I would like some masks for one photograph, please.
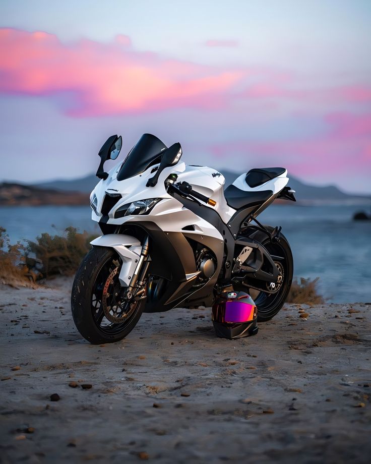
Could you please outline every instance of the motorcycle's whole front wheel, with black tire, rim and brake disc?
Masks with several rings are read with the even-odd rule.
[[[139,321],[145,299],[126,302],[118,275],[121,261],[111,248],[93,247],[76,273],[71,309],[80,334],[92,344],[125,338]]]

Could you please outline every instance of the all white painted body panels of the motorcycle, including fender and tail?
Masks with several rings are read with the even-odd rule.
[[[90,196],[90,201],[94,201],[98,213],[101,211],[102,204],[106,194],[121,195],[121,198],[114,204],[106,217],[107,224],[125,224],[131,221],[136,223],[141,221],[154,222],[165,233],[181,232],[183,227],[187,227],[188,235],[198,235],[201,239],[204,237],[220,240],[221,253],[224,248],[224,237],[219,230],[209,223],[206,219],[198,216],[194,212],[185,208],[181,201],[178,201],[173,196],[169,195],[165,189],[165,180],[170,174],[177,175],[177,182],[186,181],[192,185],[193,189],[211,198],[216,202],[215,206],[205,203],[205,206],[216,211],[221,220],[227,224],[231,217],[236,212],[235,209],[227,205],[224,197],[225,179],[220,172],[205,166],[185,165],[183,162],[178,162],[174,166],[166,167],[159,175],[157,185],[155,187],[147,187],[147,181],[154,176],[155,166],[150,166],[141,174],[122,181],[117,180],[117,173],[120,169],[121,162],[112,168],[108,173],[106,180],[101,180]],[[270,180],[256,188],[251,188],[245,182],[245,174],[239,176],[233,185],[245,192],[272,190],[272,201],[288,183],[288,178],[285,171],[279,177]],[[146,199],[161,199],[148,214],[128,215],[115,218],[115,212],[123,205],[129,205],[132,202]],[[100,221],[102,214],[96,214],[92,211],[92,219]],[[192,226],[192,230],[190,229]],[[112,247],[122,259],[122,269],[119,279],[121,285],[128,286],[130,284],[129,277],[133,275],[136,261],[139,260],[141,246],[137,239],[130,236],[112,234],[99,237],[91,242],[94,246]]]

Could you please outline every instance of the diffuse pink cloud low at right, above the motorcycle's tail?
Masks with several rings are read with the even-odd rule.
[[[284,165],[295,175],[321,175],[322,172],[354,175],[363,170],[371,172],[371,113],[333,113],[324,118],[326,134],[303,140],[271,142],[228,142],[212,145],[209,150],[218,158],[233,153],[257,160],[254,165]],[[259,161],[260,159],[260,161]]]

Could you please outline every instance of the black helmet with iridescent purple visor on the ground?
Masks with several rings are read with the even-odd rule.
[[[255,335],[258,310],[250,295],[244,292],[223,292],[213,305],[216,334],[224,338]]]

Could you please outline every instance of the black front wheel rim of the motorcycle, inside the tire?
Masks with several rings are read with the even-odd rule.
[[[117,335],[122,330],[124,330],[137,315],[140,305],[140,302],[136,301],[135,308],[133,308],[133,311],[131,311],[130,316],[123,322],[114,323],[110,322],[106,318],[102,304],[103,288],[108,276],[117,267],[121,267],[121,262],[117,256],[114,255],[107,258],[106,261],[104,261],[103,264],[101,264],[97,276],[95,277],[92,288],[91,310],[93,320],[98,330],[105,335]]]

